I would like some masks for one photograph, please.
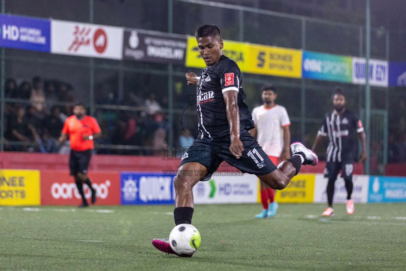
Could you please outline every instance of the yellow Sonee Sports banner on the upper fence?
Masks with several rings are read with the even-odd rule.
[[[246,72],[251,74],[292,78],[302,76],[302,50],[250,44],[249,56]]]

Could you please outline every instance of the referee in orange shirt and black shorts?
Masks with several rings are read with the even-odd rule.
[[[75,177],[76,186],[82,196],[82,204],[79,207],[89,206],[83,193],[83,183],[87,184],[92,191],[92,204],[96,202],[96,191],[87,176],[90,158],[93,151],[93,139],[102,135],[97,120],[86,115],[84,104],[78,103],[73,107],[73,115],[65,120],[59,142],[63,143],[68,139],[71,143],[71,154],[69,156],[69,168],[71,176]]]

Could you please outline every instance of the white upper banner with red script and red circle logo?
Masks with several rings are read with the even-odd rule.
[[[123,32],[121,27],[51,20],[51,53],[120,60]]]

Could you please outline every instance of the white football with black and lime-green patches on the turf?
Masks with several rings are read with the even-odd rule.
[[[200,243],[200,232],[190,224],[179,224],[169,234],[169,244],[179,255],[192,255]]]

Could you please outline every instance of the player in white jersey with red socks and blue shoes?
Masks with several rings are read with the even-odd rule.
[[[257,136],[259,145],[276,165],[279,158],[286,160],[290,157],[290,120],[286,108],[275,104],[277,94],[273,86],[263,86],[261,93],[263,105],[253,110],[255,128],[250,132],[254,138]],[[274,201],[274,190],[261,181],[260,193],[263,210],[255,217],[273,217],[278,209],[278,203]]]

